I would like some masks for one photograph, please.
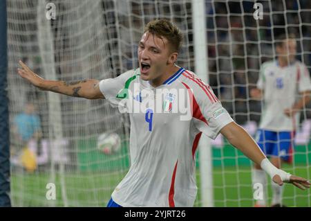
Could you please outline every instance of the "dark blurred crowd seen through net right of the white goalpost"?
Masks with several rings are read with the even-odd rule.
[[[207,6],[209,85],[238,123],[260,121],[261,102],[249,96],[260,65],[276,59],[274,39],[294,33],[297,60],[311,69],[311,1],[256,1],[262,19],[254,19],[254,1],[211,2]],[[310,105],[301,112],[311,117]]]

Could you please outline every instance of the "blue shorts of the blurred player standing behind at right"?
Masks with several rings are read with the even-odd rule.
[[[259,129],[256,142],[267,157],[281,157],[283,161],[292,163],[293,132],[274,132]]]

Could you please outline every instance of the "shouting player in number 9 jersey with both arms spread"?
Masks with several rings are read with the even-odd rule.
[[[273,166],[252,137],[234,123],[209,85],[176,65],[181,43],[179,28],[159,19],[144,28],[138,46],[139,68],[117,78],[74,83],[45,80],[23,62],[19,62],[22,69],[18,73],[40,89],[88,99],[106,98],[129,112],[131,168],[113,191],[108,206],[194,206],[195,152],[202,132],[211,139],[223,134],[261,165],[276,184],[289,182],[309,188],[306,179]],[[182,91],[187,93],[183,96]],[[189,118],[173,110],[178,101],[190,103]],[[135,105],[140,105],[140,111],[133,111]]]

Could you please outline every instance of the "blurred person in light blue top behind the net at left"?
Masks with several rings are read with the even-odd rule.
[[[12,164],[23,166],[29,172],[37,168],[37,143],[41,138],[41,122],[28,96],[23,111],[13,121]]]

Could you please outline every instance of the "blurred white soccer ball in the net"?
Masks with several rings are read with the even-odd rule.
[[[115,133],[103,133],[98,136],[97,149],[104,154],[114,154],[121,148],[121,139]]]

